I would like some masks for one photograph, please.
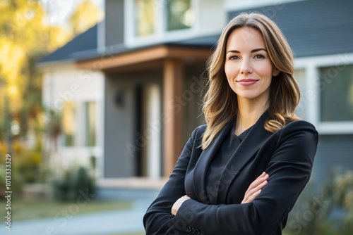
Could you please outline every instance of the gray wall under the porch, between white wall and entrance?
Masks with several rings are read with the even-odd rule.
[[[117,106],[114,96],[124,91],[124,106]],[[104,107],[104,177],[133,177],[136,167],[126,144],[133,138],[133,87],[112,77],[105,80]]]

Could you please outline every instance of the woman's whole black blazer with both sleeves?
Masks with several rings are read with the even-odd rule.
[[[228,122],[204,151],[206,125],[197,127],[186,143],[168,182],[143,217],[146,234],[282,234],[290,210],[309,181],[318,132],[306,121],[294,121],[275,133],[263,127],[266,111],[251,128],[213,189],[205,177],[211,160],[232,128]],[[262,172],[268,184],[251,203],[241,204],[249,185]],[[207,191],[217,190],[210,198]],[[187,194],[177,215],[172,205]]]

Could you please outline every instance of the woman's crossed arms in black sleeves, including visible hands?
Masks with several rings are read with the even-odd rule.
[[[312,125],[302,122],[288,128],[266,169],[270,177],[261,174],[241,204],[229,205],[206,205],[184,196],[194,139],[193,132],[169,181],[148,208],[143,218],[146,234],[189,234],[184,231],[186,226],[205,235],[273,233],[309,181],[318,136]]]

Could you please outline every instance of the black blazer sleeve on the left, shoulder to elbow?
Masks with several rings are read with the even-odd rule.
[[[171,210],[174,203],[186,194],[184,179],[191,153],[193,148],[195,148],[193,145],[198,129],[201,129],[201,127],[193,130],[191,138],[186,142],[167,183],[164,184],[157,198],[152,202],[143,217],[146,235],[187,234],[174,225],[174,215],[172,215]]]

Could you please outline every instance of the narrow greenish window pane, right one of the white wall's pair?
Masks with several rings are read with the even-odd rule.
[[[85,103],[85,145],[95,146],[95,102]]]

